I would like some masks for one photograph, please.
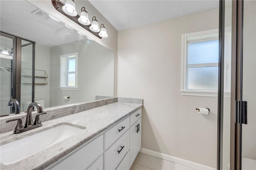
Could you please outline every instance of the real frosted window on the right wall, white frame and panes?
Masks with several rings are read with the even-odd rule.
[[[217,96],[218,29],[184,34],[182,38],[182,95]],[[231,37],[225,37],[226,49],[228,38]],[[226,69],[229,63],[227,58],[230,59],[227,54],[228,52],[225,54]],[[225,77],[227,81],[229,78]],[[227,84],[224,88],[228,91]]]

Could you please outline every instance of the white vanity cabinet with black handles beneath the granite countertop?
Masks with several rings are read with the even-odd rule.
[[[140,148],[141,109],[46,169],[128,170]]]

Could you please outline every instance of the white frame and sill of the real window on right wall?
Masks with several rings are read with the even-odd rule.
[[[216,67],[218,63],[203,63],[203,64],[187,64],[188,57],[188,43],[192,42],[203,42],[205,40],[218,40],[218,29],[207,30],[202,32],[194,32],[182,35],[182,95],[189,96],[206,96],[206,97],[218,97],[218,90],[205,90],[205,89],[188,89],[188,68],[190,67]],[[230,62],[231,62],[231,32],[229,28],[225,32],[225,61],[224,69],[227,71],[224,74],[224,97],[228,97],[230,93]]]

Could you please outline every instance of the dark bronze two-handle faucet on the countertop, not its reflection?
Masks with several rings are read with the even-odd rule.
[[[37,113],[38,113],[36,115],[34,123],[32,121],[32,108],[33,108],[33,106],[36,106]],[[13,133],[15,133],[15,134],[16,133],[21,133],[21,132],[28,131],[30,129],[41,127],[42,123],[39,119],[39,116],[43,115],[43,114],[46,114],[46,112],[43,111],[42,106],[37,102],[33,102],[33,103],[30,103],[30,105],[28,105],[25,126],[23,126],[23,124],[22,124],[22,119],[11,119],[11,120],[6,121],[6,123],[11,122],[11,121],[18,121],[16,127],[14,128]]]

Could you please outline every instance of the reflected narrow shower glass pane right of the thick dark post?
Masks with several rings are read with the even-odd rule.
[[[33,43],[21,40],[21,88],[20,88],[20,111],[26,111],[32,103],[32,65]]]

